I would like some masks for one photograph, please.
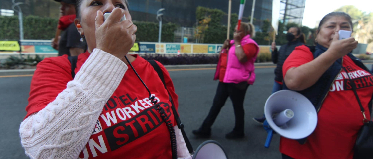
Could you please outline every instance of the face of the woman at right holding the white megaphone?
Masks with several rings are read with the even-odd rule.
[[[316,32],[316,42],[325,48],[329,48],[334,34],[338,34],[339,30],[352,31],[352,26],[345,17],[334,16],[325,21],[322,26],[319,26],[319,30]]]

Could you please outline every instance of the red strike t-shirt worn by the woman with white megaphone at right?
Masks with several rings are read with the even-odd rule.
[[[293,67],[313,60],[308,47],[297,47],[283,65],[283,75]],[[368,103],[373,93],[373,76],[355,65],[348,56],[343,57],[344,69],[331,85],[321,109],[315,131],[304,145],[297,141],[281,137],[280,152],[295,159],[352,159],[353,146],[357,133],[363,125],[363,114],[351,89],[351,82],[357,87],[357,93],[370,119]],[[349,77],[352,81],[349,80]]]

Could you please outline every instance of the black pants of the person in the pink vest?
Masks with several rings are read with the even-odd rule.
[[[212,104],[210,112],[208,113],[208,116],[203,121],[201,129],[210,130],[221,108],[224,106],[228,97],[230,97],[233,103],[234,115],[236,119],[233,130],[243,132],[245,115],[243,104],[248,87],[249,85],[247,83],[234,84],[219,82],[214,97],[214,102]]]

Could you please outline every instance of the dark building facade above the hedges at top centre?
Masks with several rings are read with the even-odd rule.
[[[184,27],[193,27],[196,23],[198,6],[216,8],[228,13],[228,0],[129,0],[133,20],[157,22],[156,13],[163,11],[164,22],[173,22]],[[251,15],[253,0],[246,0],[244,21]],[[238,14],[240,0],[232,0],[232,13]],[[272,0],[256,0],[254,19],[260,25],[261,20],[270,20],[272,16]],[[227,17],[227,16],[224,16]]]

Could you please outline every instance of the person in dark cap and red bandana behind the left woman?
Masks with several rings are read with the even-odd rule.
[[[58,56],[67,54],[68,56],[77,56],[85,51],[85,43],[77,28],[74,25],[75,15],[75,0],[55,0],[61,3],[60,20],[58,21],[58,29],[63,33],[59,37],[58,42],[52,39],[51,46],[58,50]]]

